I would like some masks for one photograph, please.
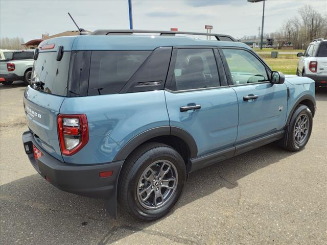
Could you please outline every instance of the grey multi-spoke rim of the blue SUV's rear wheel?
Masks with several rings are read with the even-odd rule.
[[[178,183],[175,165],[168,160],[151,163],[138,180],[137,200],[144,208],[156,210],[173,197]]]

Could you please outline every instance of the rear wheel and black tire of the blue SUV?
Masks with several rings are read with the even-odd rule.
[[[160,173],[166,171],[160,180]],[[119,177],[118,200],[131,216],[144,221],[155,220],[165,216],[175,205],[185,180],[185,163],[177,151],[166,144],[146,143],[124,163]],[[145,189],[149,193],[141,193]]]

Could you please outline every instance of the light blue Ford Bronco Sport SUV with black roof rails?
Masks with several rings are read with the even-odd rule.
[[[106,199],[113,216],[119,201],[154,220],[197,169],[276,140],[305,147],[313,80],[272,71],[228,35],[175,34],[208,35],[98,30],[40,43],[22,141],[44,179]]]

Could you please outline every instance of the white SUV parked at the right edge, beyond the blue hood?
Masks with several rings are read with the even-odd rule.
[[[308,77],[316,82],[316,87],[327,87],[327,40],[315,39],[297,63],[296,75]]]

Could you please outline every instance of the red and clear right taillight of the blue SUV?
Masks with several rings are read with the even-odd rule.
[[[57,119],[61,153],[71,156],[81,150],[88,141],[86,115],[59,114]]]

